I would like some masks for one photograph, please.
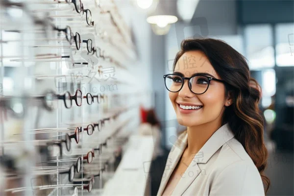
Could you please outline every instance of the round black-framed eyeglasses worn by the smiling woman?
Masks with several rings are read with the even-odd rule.
[[[210,81],[215,80],[225,83],[225,81],[204,75],[203,73],[196,73],[192,77],[183,77],[178,74],[163,75],[165,86],[170,92],[178,92],[184,86],[184,80],[188,80],[188,86],[191,92],[200,95],[207,91]]]

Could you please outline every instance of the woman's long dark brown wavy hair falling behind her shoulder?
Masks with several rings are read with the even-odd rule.
[[[264,143],[264,122],[258,108],[261,88],[250,77],[245,57],[221,40],[186,39],[176,54],[173,70],[178,59],[189,50],[200,50],[209,59],[221,79],[226,81],[225,94],[233,97],[233,104],[226,107],[222,123],[228,123],[235,138],[243,145],[257,167],[264,185],[265,193],[270,187],[270,179],[264,175],[267,167],[268,150]]]

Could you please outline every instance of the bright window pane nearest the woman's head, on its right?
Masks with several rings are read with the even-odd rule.
[[[245,26],[246,58],[250,70],[274,67],[270,25]]]

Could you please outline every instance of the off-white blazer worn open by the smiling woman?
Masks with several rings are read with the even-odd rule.
[[[157,196],[187,146],[187,131],[173,145]],[[264,196],[261,176],[228,123],[222,125],[195,155],[172,192],[172,196]]]

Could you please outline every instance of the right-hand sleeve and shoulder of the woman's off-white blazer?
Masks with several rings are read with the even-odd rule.
[[[242,144],[232,138],[225,143],[214,164],[210,196],[264,196],[258,169]]]

